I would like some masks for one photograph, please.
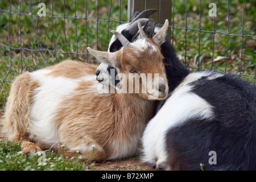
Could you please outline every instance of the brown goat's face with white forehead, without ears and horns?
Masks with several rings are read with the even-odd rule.
[[[157,44],[147,38],[131,43],[122,48],[120,63],[115,68],[123,73],[118,74],[122,92],[139,93],[139,97],[154,100],[166,98],[168,84],[163,56]]]

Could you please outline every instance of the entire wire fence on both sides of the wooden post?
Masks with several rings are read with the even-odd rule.
[[[109,34],[110,30],[115,29],[119,24],[127,23],[127,1],[45,1],[46,14],[43,14],[43,16],[42,6],[38,6],[42,2],[31,0],[29,3],[25,3],[23,1],[1,0],[1,92],[1,89],[6,89],[3,88],[4,84],[13,82],[14,76],[11,75],[14,69],[19,72],[18,74],[36,69],[30,68],[30,65],[27,66],[28,62],[33,62],[33,60],[34,64],[40,62],[43,67],[56,64],[64,59],[96,63],[93,60],[91,61],[86,48],[89,46],[106,51],[112,36]],[[233,4],[230,8],[232,2],[225,2],[226,19],[224,23],[226,31],[222,31],[223,29],[219,31],[219,25],[216,22],[218,15],[210,19],[208,15],[205,15],[209,11],[209,8],[205,10],[205,5],[208,6],[209,3],[199,1],[194,6],[192,1],[172,1],[172,16],[169,19],[172,30],[171,43],[174,45],[181,61],[188,68],[197,71],[213,69],[221,73],[231,72],[234,75],[253,79],[253,81],[250,81],[255,85],[255,28],[251,31],[255,22],[252,18],[248,21],[248,25],[247,19],[245,19],[245,10],[250,8],[248,5],[255,5],[253,2],[246,1],[245,3],[245,0],[239,2],[241,2],[239,4],[241,15],[238,16],[235,16],[236,12],[233,12]],[[161,4],[161,1],[159,3]],[[145,9],[147,9],[146,0]],[[182,12],[179,12],[180,10]],[[159,19],[160,14],[161,10],[159,9]],[[230,19],[231,15],[233,19]],[[233,30],[230,28],[234,17],[236,20],[240,18],[238,19],[240,25],[237,26],[239,34],[232,33]],[[256,18],[256,15],[253,14],[253,17]],[[180,24],[180,22],[183,22],[183,24]],[[205,28],[207,24],[213,24],[213,30],[207,30]],[[157,25],[162,26],[162,24]],[[245,31],[247,27],[249,29]],[[232,28],[234,29],[234,25]],[[222,48],[220,48],[219,39]],[[195,41],[191,42],[191,40]],[[238,62],[236,72],[230,71],[234,68],[233,66],[228,68],[233,54],[233,40],[236,41],[236,50],[240,49],[240,53],[234,54]],[[206,46],[208,46],[207,53],[204,52]],[[211,50],[209,50],[209,47]],[[218,49],[222,51],[221,58],[218,56]],[[224,53],[225,55],[223,55]],[[191,61],[192,55],[193,59]],[[204,59],[208,59],[210,63],[204,65]],[[247,61],[247,59],[250,61]],[[222,60],[223,67],[221,69],[215,68],[215,63],[219,64],[218,60]],[[7,94],[3,94],[2,97],[6,96]]]

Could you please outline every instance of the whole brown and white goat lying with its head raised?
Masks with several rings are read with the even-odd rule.
[[[152,118],[154,101],[166,98],[168,85],[159,46],[164,42],[168,20],[152,39],[138,23],[141,39],[130,43],[112,31],[123,44],[119,51],[101,52],[88,48],[99,61],[113,65],[125,75],[123,83],[134,84],[139,75],[152,74],[146,93],[101,93],[96,65],[66,60],[52,67],[18,76],[12,85],[3,118],[10,140],[22,139],[24,153],[55,148],[64,156],[93,161],[120,159],[138,152],[143,129]],[[130,80],[130,72],[137,73]],[[158,73],[158,76],[154,76]],[[159,81],[157,81],[159,80]],[[148,82],[148,81],[147,81]],[[146,82],[139,82],[140,90]],[[156,91],[156,92],[155,92]]]

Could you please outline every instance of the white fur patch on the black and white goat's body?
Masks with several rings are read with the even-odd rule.
[[[159,166],[167,161],[166,133],[183,121],[200,116],[211,118],[213,107],[203,98],[189,91],[189,82],[195,81],[208,73],[191,73],[172,93],[158,114],[148,123],[143,134],[143,160]]]

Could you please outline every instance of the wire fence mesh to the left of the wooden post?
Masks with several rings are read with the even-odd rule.
[[[108,15],[108,19],[100,19],[99,18],[99,13],[98,13],[98,11],[99,11],[99,1],[93,1],[93,3],[96,3],[96,8],[97,8],[97,17],[93,17],[93,16],[88,16],[88,12],[87,12],[87,10],[88,10],[88,1],[86,1],[85,3],[84,3],[84,7],[85,7],[85,11],[84,11],[84,16],[77,16],[77,11],[76,11],[76,0],[75,1],[73,1],[73,7],[74,7],[74,10],[73,10],[73,12],[75,13],[75,15],[73,15],[73,16],[71,16],[71,15],[66,15],[66,5],[67,5],[67,1],[63,1],[63,2],[61,2],[62,3],[62,5],[63,5],[63,15],[62,16],[59,16],[59,15],[55,15],[53,12],[53,9],[58,9],[58,7],[54,7],[53,5],[54,5],[54,1],[51,1],[51,2],[49,2],[48,1],[48,5],[49,4],[51,4],[51,7],[48,7],[48,8],[50,8],[51,9],[51,14],[43,14],[43,17],[48,17],[48,18],[50,18],[51,19],[51,24],[52,24],[52,27],[51,27],[51,30],[49,30],[49,31],[52,31],[52,41],[53,41],[53,49],[49,49],[49,48],[47,48],[46,46],[42,46],[42,42],[41,42],[41,40],[40,40],[40,37],[42,38],[42,36],[46,36],[46,35],[39,35],[39,30],[40,30],[40,27],[39,27],[39,22],[40,22],[40,19],[42,19],[42,16],[40,16],[40,14],[39,14],[39,11],[40,11],[40,7],[39,6],[37,6],[37,5],[39,5],[40,3],[41,3],[41,1],[39,1],[39,3],[38,2],[32,2],[32,1],[30,1],[30,4],[28,5],[29,7],[30,7],[30,11],[28,12],[28,13],[23,13],[22,12],[22,1],[19,1],[19,4],[17,5],[17,2],[18,1],[10,1],[10,3],[9,3],[9,7],[8,6],[3,6],[3,0],[1,0],[1,5],[0,5],[0,22],[1,22],[1,16],[3,16],[3,14],[4,13],[7,13],[8,14],[8,18],[7,19],[5,19],[5,20],[7,20],[7,21],[5,21],[5,22],[1,22],[2,24],[6,24],[7,25],[7,31],[8,31],[8,37],[7,37],[7,43],[8,44],[6,44],[6,42],[5,43],[3,43],[2,42],[2,44],[1,44],[1,42],[0,42],[0,49],[3,49],[3,48],[7,48],[7,49],[9,49],[9,63],[8,63],[8,65],[9,65],[9,71],[6,73],[6,76],[4,77],[4,78],[1,78],[0,80],[2,81],[2,84],[1,84],[1,86],[0,86],[0,89],[1,89],[1,87],[2,87],[2,85],[3,85],[3,83],[4,82],[13,82],[13,80],[7,80],[6,78],[9,76],[9,74],[10,74],[10,71],[11,71],[11,69],[13,68],[13,52],[15,53],[15,52],[20,52],[20,63],[21,63],[21,71],[20,71],[20,73],[21,72],[23,72],[23,61],[24,61],[24,58],[23,58],[23,51],[24,50],[26,50],[26,51],[30,51],[30,52],[38,52],[39,53],[39,55],[40,55],[40,59],[42,59],[43,60],[43,63],[44,63],[44,66],[45,67],[47,67],[48,65],[49,65],[49,61],[48,61],[48,59],[47,59],[47,57],[46,57],[46,52],[52,52],[54,55],[55,55],[55,60],[57,61],[57,62],[59,62],[59,59],[58,59],[58,56],[57,56],[57,54],[63,54],[63,55],[66,55],[66,57],[67,57],[67,59],[68,59],[68,55],[70,55],[70,54],[73,54],[73,55],[76,55],[76,59],[78,60],[79,59],[79,56],[80,55],[86,55],[86,60],[87,60],[87,62],[89,62],[88,61],[88,55],[89,55],[89,52],[87,51],[87,49],[86,49],[86,47],[88,47],[88,39],[89,39],[89,36],[88,36],[88,27],[87,27],[87,21],[88,20],[95,20],[96,21],[96,27],[94,28],[94,30],[93,31],[96,31],[96,47],[98,48],[98,37],[99,37],[99,33],[98,33],[98,22],[107,22],[108,23],[108,27],[104,27],[104,28],[106,28],[106,30],[105,30],[105,32],[107,32],[107,36],[106,36],[106,42],[109,42],[109,32],[110,32],[110,30],[109,30],[109,24],[110,24],[110,22],[118,22],[118,24],[121,24],[121,23],[126,23],[126,21],[123,21],[122,19],[121,19],[121,0],[119,1],[119,19],[110,19],[110,14],[112,13],[112,1],[110,1],[110,7],[109,7],[109,15]],[[56,2],[56,1],[55,1]],[[115,1],[115,2],[117,2],[117,1]],[[12,6],[14,6],[13,5],[13,3],[16,5],[16,7],[18,7],[18,11],[16,11],[16,12],[14,12],[13,10],[12,10]],[[6,3],[7,4],[7,3]],[[44,4],[45,5],[45,4]],[[8,7],[8,8],[7,8]],[[35,10],[33,10],[33,9],[35,9],[35,7],[36,8],[38,8],[37,9],[37,11],[35,11]],[[34,12],[33,12],[34,11]],[[18,22],[16,22],[16,23],[19,23],[19,29],[17,29],[17,30],[15,30],[15,31],[19,31],[19,46],[17,47],[17,44],[15,45],[16,47],[14,47],[13,46],[13,44],[12,44],[12,40],[11,40],[11,16],[12,15],[18,15],[19,16],[19,20],[18,20]],[[23,39],[24,38],[22,38],[22,20],[21,20],[21,17],[22,16],[27,16],[28,18],[30,18],[30,25],[32,26],[32,28],[33,28],[33,31],[34,31],[34,36],[35,36],[35,38],[36,38],[36,44],[33,46],[33,47],[35,47],[35,48],[29,48],[29,47],[24,47],[23,46]],[[68,51],[68,40],[67,40],[67,32],[66,32],[66,22],[67,22],[67,19],[68,18],[71,18],[71,19],[73,19],[73,20],[75,20],[75,40],[73,40],[73,42],[76,42],[75,44],[76,44],[76,50],[74,51]],[[64,33],[64,39],[63,39],[63,42],[64,42],[64,44],[65,44],[65,51],[58,51],[57,49],[56,49],[56,46],[57,46],[57,44],[56,44],[56,33],[55,33],[55,26],[53,25],[54,23],[54,21],[55,21],[55,19],[62,19],[63,20],[63,33]],[[78,35],[77,35],[77,31],[78,31],[78,27],[77,27],[77,21],[79,20],[79,19],[83,19],[83,20],[85,20],[85,30],[86,30],[86,35],[85,35],[85,42],[86,42],[86,46],[84,46],[85,47],[85,49],[86,49],[86,52],[79,52],[79,41],[78,41]],[[50,27],[49,27],[50,28]],[[15,32],[16,33],[16,32]],[[0,35],[1,36],[1,35]],[[106,47],[108,47],[108,45],[106,46]],[[3,52],[5,52],[5,51],[3,51]],[[5,64],[5,61],[1,61],[2,63],[1,64]]]

